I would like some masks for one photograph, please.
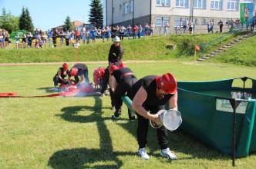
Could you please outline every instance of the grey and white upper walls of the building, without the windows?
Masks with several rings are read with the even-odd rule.
[[[192,2],[189,0],[188,8],[176,7],[176,1],[170,0],[170,6],[157,5],[157,0],[133,0],[134,2],[134,14],[129,12],[126,15],[123,15],[123,4],[128,3],[130,0],[106,0],[107,7],[107,25],[118,24],[120,22],[131,21],[136,18],[150,17],[150,1],[151,1],[151,18],[152,20],[156,16],[170,17],[170,22],[173,22],[174,18],[191,18],[193,13],[193,18],[198,18],[196,24],[201,24],[200,19],[205,19],[205,21],[214,19],[218,21],[223,19],[224,21],[230,20],[231,18],[240,18],[240,12],[238,11],[228,11],[227,10],[227,0],[223,0],[222,10],[212,10],[211,9],[211,0],[207,0],[207,6],[205,9],[194,8],[192,12]],[[113,5],[112,5],[113,2]],[[239,1],[240,3],[244,2],[243,0]],[[111,8],[113,6],[114,12],[112,13]],[[254,2],[255,6],[255,2]],[[255,8],[254,8],[255,12]],[[112,15],[113,14],[113,15]],[[113,18],[113,20],[112,20]],[[134,23],[135,24],[135,23]]]

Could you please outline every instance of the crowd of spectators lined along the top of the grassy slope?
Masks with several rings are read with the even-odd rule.
[[[254,18],[251,27],[254,28],[256,19]],[[254,24],[253,24],[254,23]],[[217,23],[220,28],[220,32],[222,32],[224,23],[222,20]],[[234,28],[241,27],[241,21],[239,18],[233,19],[226,23],[229,25],[230,31],[234,30]],[[184,29],[189,28],[189,32],[192,32],[193,23],[186,20]],[[165,23],[163,26],[164,35],[167,35],[167,30],[170,26]],[[63,31],[52,29],[49,31],[42,31],[35,29],[34,32],[29,31],[28,35],[23,33],[22,35],[17,34],[15,36],[15,48],[43,48],[43,47],[52,47],[55,48],[57,46],[79,46],[80,44],[89,44],[95,43],[96,39],[102,39],[105,41],[113,41],[113,38],[119,36],[123,41],[126,39],[136,39],[136,38],[148,38],[149,36],[154,35],[155,25],[151,23],[150,25],[146,23],[145,25],[113,25],[106,26],[105,28],[96,28],[86,29],[83,27],[81,29],[72,29],[71,31]],[[214,22],[209,21],[207,23],[207,31],[210,33],[214,33]],[[11,43],[8,31],[2,31],[0,29],[0,48],[9,48],[9,43]]]

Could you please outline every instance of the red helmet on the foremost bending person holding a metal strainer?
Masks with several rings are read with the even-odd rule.
[[[156,78],[157,86],[167,94],[174,94],[177,91],[177,81],[170,73]]]

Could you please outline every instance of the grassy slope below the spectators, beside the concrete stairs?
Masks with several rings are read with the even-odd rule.
[[[216,41],[213,45],[204,48],[204,54],[198,52],[197,58],[214,51],[215,48],[227,44],[245,32],[234,35],[228,35],[220,41]],[[141,38],[123,40],[124,48],[123,60],[194,60],[194,46],[203,45],[208,41],[220,38],[224,34],[204,34],[204,35],[170,35],[168,37],[155,36],[153,38]],[[240,44],[235,45],[230,50],[224,52],[220,57],[213,60],[215,62],[229,62],[238,65],[255,66],[256,61],[253,55],[253,44],[255,38],[248,38]],[[9,50],[1,50],[0,63],[25,63],[25,62],[59,62],[59,61],[106,61],[109,47],[112,41],[103,43],[101,39],[97,39],[96,44],[80,45],[78,49],[72,47],[58,48],[20,48],[19,50],[10,48]],[[177,45],[175,50],[166,48],[166,45]],[[14,45],[14,44],[12,44]],[[246,49],[246,50],[245,50]],[[238,52],[239,51],[239,52]],[[228,52],[228,53],[227,53]],[[227,55],[228,54],[228,55]],[[237,55],[239,54],[239,55]],[[224,56],[224,57],[223,57]],[[241,58],[241,59],[237,59]]]

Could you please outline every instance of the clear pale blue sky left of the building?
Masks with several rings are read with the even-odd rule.
[[[88,23],[91,0],[0,0],[2,8],[14,16],[20,16],[22,7],[28,8],[35,28],[48,30],[63,25],[66,17],[71,21]]]

